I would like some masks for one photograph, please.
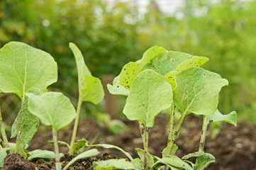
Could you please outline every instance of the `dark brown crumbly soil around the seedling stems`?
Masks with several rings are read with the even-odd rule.
[[[168,119],[169,118],[165,117],[165,115],[157,115],[157,118],[155,118],[155,126],[150,128],[149,152],[157,157],[162,157],[162,149],[167,145]],[[198,151],[199,140],[201,137],[201,122],[202,119],[195,117],[194,115],[189,115],[189,118],[185,119],[176,141],[179,147],[176,153],[177,156],[182,157],[185,154]],[[95,120],[81,120],[77,131],[77,140],[84,138],[93,141],[96,138],[94,144],[116,145],[126,152],[129,152],[132,157],[138,157],[135,148],[143,148],[140,131],[138,129],[138,122],[123,118],[123,123],[127,125],[127,129],[123,130],[123,132],[118,135],[113,135],[107,128],[99,127]],[[69,125],[64,129],[59,130],[58,140],[69,143],[72,136],[72,128],[73,125]],[[33,140],[30,141],[28,150],[52,150],[53,146],[48,144],[48,140],[52,140],[51,130],[44,125],[40,125],[39,129],[40,130],[38,130],[33,137]],[[219,134],[215,135],[215,139],[213,139],[213,133],[216,132],[218,132],[218,130],[208,127],[204,151],[213,154],[213,156],[216,157],[216,162],[210,164],[207,169],[256,170],[256,125],[248,125],[247,123],[240,122],[238,123],[238,126],[235,127],[228,123],[223,123],[219,130]],[[11,141],[15,142],[13,139]],[[126,158],[123,153],[116,149],[97,149],[101,152],[98,157],[80,159],[70,166],[69,169],[92,169],[92,162],[99,159],[116,158],[115,156]],[[65,147],[60,147],[60,152],[67,153],[68,150]],[[115,156],[111,156],[112,154]],[[4,169],[11,169],[7,167],[10,165],[13,166],[11,158],[16,156],[13,156],[12,154],[6,157]],[[64,167],[72,157],[74,156],[65,154],[65,157],[61,160],[62,167]],[[22,158],[16,157],[12,159],[12,161],[19,162],[20,159]],[[34,160],[32,163],[34,167],[37,167],[40,170],[55,168],[54,160],[51,162],[44,162],[42,159],[38,159]],[[30,169],[31,162],[28,163],[24,160],[21,164],[26,164],[25,168],[18,169]],[[19,164],[17,166],[19,166]]]

